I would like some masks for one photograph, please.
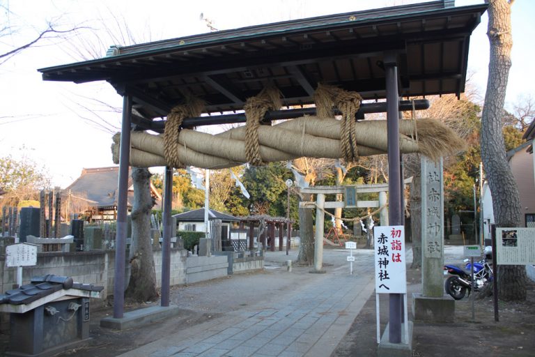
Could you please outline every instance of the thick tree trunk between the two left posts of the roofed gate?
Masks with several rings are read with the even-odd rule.
[[[130,282],[125,297],[132,301],[154,301],[158,297],[153,248],[150,245],[150,172],[134,167],[134,204],[132,206],[132,243],[130,245]]]

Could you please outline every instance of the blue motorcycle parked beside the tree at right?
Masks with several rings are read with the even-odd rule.
[[[468,295],[472,292],[472,275],[470,272],[472,264],[469,259],[464,261],[467,271],[455,265],[444,265],[444,275],[451,274],[444,283],[444,289],[455,300],[460,300],[465,297],[467,292]],[[488,282],[493,280],[493,269],[490,268],[485,258],[474,262],[473,269],[475,291],[480,291]]]

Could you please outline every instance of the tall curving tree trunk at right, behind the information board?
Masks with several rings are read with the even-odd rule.
[[[493,194],[493,210],[497,227],[518,227],[520,198],[518,187],[506,159],[502,135],[502,113],[509,68],[511,68],[511,3],[488,0],[488,39],[490,60],[488,82],[481,115],[481,158]],[[525,267],[501,266],[498,275],[499,298],[504,301],[525,300]]]

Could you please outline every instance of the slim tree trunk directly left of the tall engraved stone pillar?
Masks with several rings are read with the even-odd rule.
[[[412,176],[410,184],[410,231],[412,233],[411,268],[421,267],[421,175]]]

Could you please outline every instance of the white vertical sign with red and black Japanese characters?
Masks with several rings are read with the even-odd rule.
[[[407,294],[405,227],[375,226],[375,291]]]

